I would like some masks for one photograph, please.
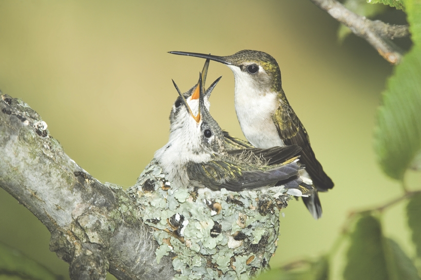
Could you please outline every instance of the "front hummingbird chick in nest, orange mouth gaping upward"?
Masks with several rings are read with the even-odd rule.
[[[284,181],[288,194],[308,195],[300,190],[302,166],[298,157],[294,157],[301,148],[291,145],[227,151],[223,132],[205,106],[201,75],[198,84],[199,107],[195,115],[174,83],[188,112],[187,120],[171,132],[169,142],[155,153],[172,183],[177,187],[242,191],[271,187]],[[272,165],[268,165],[268,158]]]

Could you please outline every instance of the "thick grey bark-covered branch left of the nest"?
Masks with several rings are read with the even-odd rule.
[[[51,232],[50,250],[70,263],[72,280],[172,279],[158,264],[151,228],[121,187],[102,184],[68,157],[39,115],[0,92],[0,187]]]

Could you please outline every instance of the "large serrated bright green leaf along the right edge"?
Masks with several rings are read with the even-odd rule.
[[[402,180],[421,152],[421,1],[406,0],[414,46],[395,67],[377,116],[375,150],[386,175]]]

